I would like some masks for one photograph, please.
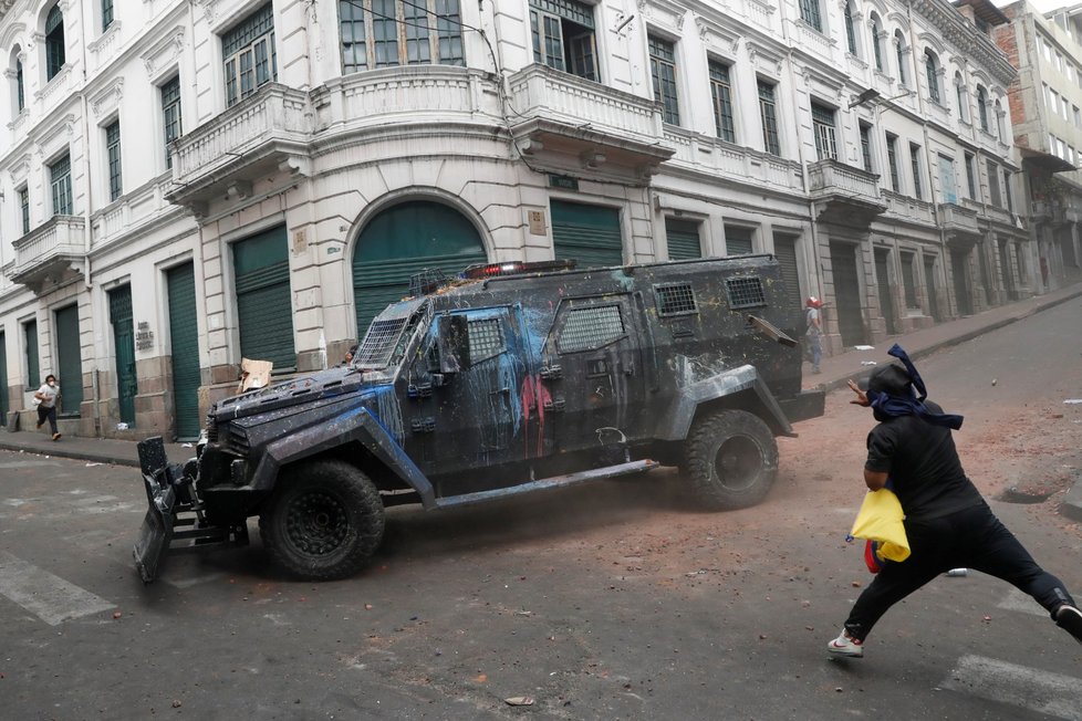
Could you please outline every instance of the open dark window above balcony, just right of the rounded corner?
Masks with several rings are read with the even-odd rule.
[[[600,81],[594,9],[576,0],[530,0],[533,62]]]

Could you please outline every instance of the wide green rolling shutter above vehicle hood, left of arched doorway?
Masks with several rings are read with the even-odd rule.
[[[296,367],[285,226],[233,243],[233,268],[241,355],[275,370]]]

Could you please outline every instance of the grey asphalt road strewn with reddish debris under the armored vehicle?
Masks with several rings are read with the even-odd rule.
[[[990,498],[1082,463],[1080,314],[919,364]],[[871,422],[846,401],[782,441],[756,509],[699,513],[670,471],[395,509],[372,567],[327,584],[268,567],[252,523],[251,546],[171,556],[145,587],[133,469],[0,452],[0,718],[1082,718],[1082,646],[979,574],[893,609],[866,658],[828,658],[870,579],[842,540]],[[1082,532],[1052,501],[992,505],[1082,597]]]

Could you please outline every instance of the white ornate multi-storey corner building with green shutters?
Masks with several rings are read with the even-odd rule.
[[[832,352],[1021,297],[974,7],[0,0],[0,410],[190,438],[475,262],[774,253]]]

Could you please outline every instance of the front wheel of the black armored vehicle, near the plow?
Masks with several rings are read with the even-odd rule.
[[[320,460],[282,472],[259,534],[271,560],[306,581],[352,576],[383,541],[379,491],[360,469]]]

